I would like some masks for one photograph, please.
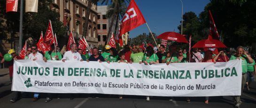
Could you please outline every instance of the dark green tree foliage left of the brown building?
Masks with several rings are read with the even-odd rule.
[[[58,19],[59,13],[49,8],[51,2],[52,0],[39,0],[38,13],[24,13],[23,33],[25,39],[28,37],[39,39],[41,31],[45,34],[49,20],[52,22],[54,34],[56,33],[57,37],[64,35],[66,31],[63,23]]]

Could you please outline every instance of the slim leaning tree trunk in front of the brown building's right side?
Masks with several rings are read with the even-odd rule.
[[[88,0],[88,5],[87,5],[87,8],[86,8],[86,14],[85,14],[85,24],[83,25],[84,29],[83,29],[83,34],[82,36],[83,37],[86,37],[86,34],[87,34],[87,30],[88,30],[88,22],[89,22],[89,16],[90,16],[90,13],[91,13],[91,7],[92,7],[92,2],[93,0]]]

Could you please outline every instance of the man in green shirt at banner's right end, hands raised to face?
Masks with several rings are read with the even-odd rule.
[[[241,85],[241,94],[243,93],[243,88],[246,84],[246,79],[247,79],[247,71],[248,71],[248,64],[247,63],[253,63],[253,59],[245,52],[244,47],[238,46],[236,48],[236,54],[232,55],[230,57],[231,60],[239,59],[242,61],[242,85]],[[235,96],[235,107],[240,108],[240,104],[242,101],[240,100],[240,95]]]

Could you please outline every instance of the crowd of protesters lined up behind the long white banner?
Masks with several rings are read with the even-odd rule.
[[[194,48],[191,53],[188,53],[186,49],[177,49],[175,45],[171,45],[168,48],[164,45],[160,45],[158,47],[158,51],[155,51],[153,47],[140,47],[140,46],[128,46],[125,45],[123,50],[117,51],[116,48],[110,47],[109,45],[105,46],[105,50],[103,53],[99,52],[97,47],[94,47],[91,51],[87,51],[86,54],[83,54],[82,49],[78,49],[76,44],[70,45],[70,51],[61,54],[57,52],[56,49],[59,50],[59,47],[51,46],[51,51],[47,51],[44,53],[39,53],[36,45],[32,45],[27,48],[26,60],[38,61],[43,60],[47,61],[99,61],[99,62],[125,62],[125,63],[144,63],[145,65],[152,65],[157,63],[166,63],[169,65],[171,63],[188,63],[188,62],[227,62],[230,60],[239,59],[242,60],[242,85],[241,92],[243,92],[244,87],[249,90],[250,83],[254,80],[255,74],[255,61],[252,59],[252,55],[248,53],[248,51],[244,50],[244,47],[237,47],[236,52],[231,54],[228,50],[218,49],[219,51],[216,54],[215,48],[207,48],[200,49]],[[55,49],[56,48],[56,49]],[[168,50],[167,50],[168,49]],[[12,61],[8,61],[7,64],[9,66],[10,72],[10,80],[12,81],[13,74],[13,63],[14,60],[21,59],[16,55],[15,50],[10,49],[8,51],[9,54],[13,56]],[[3,58],[2,54],[0,58]],[[4,63],[5,60],[2,59],[1,63]],[[11,102],[15,102],[18,99],[18,95],[20,92],[13,92],[13,98],[10,100]],[[71,97],[73,97],[71,95]],[[39,93],[34,93],[33,101],[37,101],[39,98]],[[119,96],[120,99],[123,98],[122,95]],[[172,100],[171,97],[170,100]],[[72,98],[70,98],[72,99]],[[146,97],[147,101],[149,101],[149,96]],[[239,107],[241,104],[240,96],[235,96],[235,107]],[[47,94],[47,98],[45,102],[51,101],[51,94]],[[186,101],[190,102],[190,99],[186,97]],[[205,97],[206,104],[209,103],[209,97]]]

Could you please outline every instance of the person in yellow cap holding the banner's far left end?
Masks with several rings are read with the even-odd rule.
[[[12,82],[13,79],[13,65],[14,65],[14,60],[22,60],[22,58],[18,55],[16,55],[16,52],[14,49],[10,49],[8,51],[8,54],[11,54],[13,56],[13,59],[11,61],[6,61],[7,62],[7,66],[9,67],[9,75],[10,75],[10,81]],[[1,60],[1,63],[4,63],[5,60],[4,58]],[[21,92],[18,91],[13,91],[12,93],[12,99],[10,100],[11,102],[16,102],[18,99],[19,94],[21,94]]]

